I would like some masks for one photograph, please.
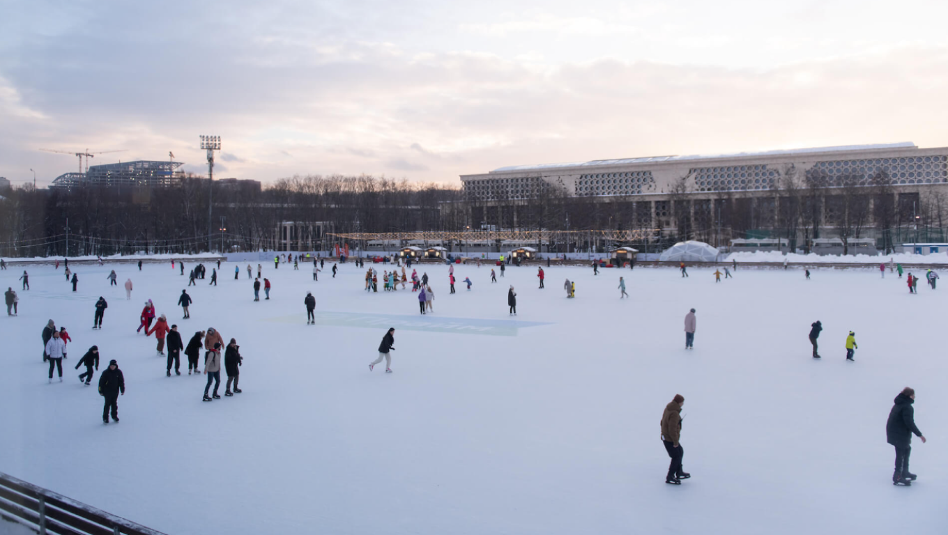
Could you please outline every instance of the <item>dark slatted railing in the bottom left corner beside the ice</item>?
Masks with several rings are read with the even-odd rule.
[[[6,473],[0,473],[0,514],[40,535],[164,535]]]

